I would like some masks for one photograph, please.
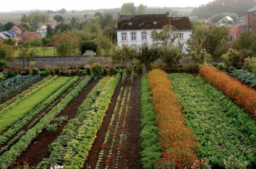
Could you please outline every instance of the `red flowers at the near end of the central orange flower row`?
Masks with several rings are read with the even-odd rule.
[[[154,163],[154,168],[162,168],[162,169],[166,169],[166,168],[172,168],[172,169],[176,169],[176,168],[180,168],[180,164],[178,162],[178,159],[176,157],[173,156],[173,153],[161,153],[161,160],[159,160],[158,162],[153,161]]]

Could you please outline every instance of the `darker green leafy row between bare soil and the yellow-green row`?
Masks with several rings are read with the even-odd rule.
[[[110,77],[100,79],[98,84],[92,89],[92,91],[87,95],[87,98],[78,107],[77,117],[69,121],[69,123],[62,130],[60,136],[49,146],[50,157],[42,160],[42,162],[40,162],[36,168],[50,168],[52,166],[52,160],[54,160],[55,164],[62,164],[62,159],[66,153],[65,151],[67,144],[71,141],[71,139],[76,137],[77,130],[80,126],[82,126],[84,123],[91,123],[94,114],[88,111],[109,80]]]

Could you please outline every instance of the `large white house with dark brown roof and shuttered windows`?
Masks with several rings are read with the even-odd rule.
[[[177,29],[181,41],[186,41],[192,34],[188,17],[170,17],[166,14],[146,15],[119,15],[117,26],[117,42],[121,47],[123,43],[141,45],[144,42],[152,44],[151,31],[163,30],[163,26],[172,25]],[[185,47],[183,48],[185,51]]]

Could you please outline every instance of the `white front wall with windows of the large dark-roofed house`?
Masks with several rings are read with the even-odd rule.
[[[153,41],[151,39],[151,31],[152,30],[127,30],[127,31],[117,31],[117,42],[118,46],[121,47],[123,43],[128,43],[129,45],[141,45],[144,42],[148,44],[152,44]],[[156,30],[160,32],[162,30]],[[192,31],[180,31],[179,38],[182,42],[186,42]],[[183,52],[187,54],[186,44],[184,44]]]

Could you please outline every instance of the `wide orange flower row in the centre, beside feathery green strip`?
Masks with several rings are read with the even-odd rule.
[[[160,132],[159,146],[164,152],[173,153],[173,160],[177,159],[180,168],[190,168],[197,160],[199,143],[193,131],[184,124],[182,108],[167,76],[166,72],[159,69],[147,75]]]

